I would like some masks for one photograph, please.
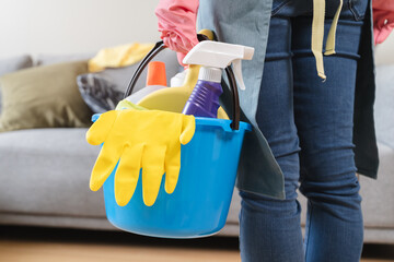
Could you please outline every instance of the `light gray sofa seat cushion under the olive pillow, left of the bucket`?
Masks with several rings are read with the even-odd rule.
[[[0,212],[105,217],[102,192],[89,189],[100,146],[88,144],[85,132],[34,129],[0,133]]]

